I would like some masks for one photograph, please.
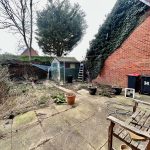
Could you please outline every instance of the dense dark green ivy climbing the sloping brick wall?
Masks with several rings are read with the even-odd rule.
[[[144,19],[149,6],[139,0],[118,0],[99,28],[87,51],[87,66],[94,79],[103,68],[105,60],[132,33]]]

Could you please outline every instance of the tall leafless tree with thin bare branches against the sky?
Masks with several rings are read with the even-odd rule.
[[[31,60],[33,0],[0,0],[0,29],[7,28],[22,36]]]

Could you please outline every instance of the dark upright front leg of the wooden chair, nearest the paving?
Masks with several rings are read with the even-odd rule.
[[[115,124],[113,122],[110,123],[108,129],[108,150],[112,150],[112,143],[113,143],[113,128]]]

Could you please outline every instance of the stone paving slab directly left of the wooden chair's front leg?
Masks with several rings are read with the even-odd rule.
[[[95,115],[85,120],[80,126],[74,127],[95,149],[100,148],[108,137],[108,122],[105,113],[102,111],[97,111]]]

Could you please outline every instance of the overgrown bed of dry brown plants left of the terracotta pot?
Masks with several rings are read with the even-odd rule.
[[[12,112],[16,116],[30,110],[48,107],[53,103],[54,95],[63,93],[52,84],[46,85],[44,82],[37,83],[34,87],[31,82],[13,83],[9,97],[0,105],[0,119],[8,118]]]

